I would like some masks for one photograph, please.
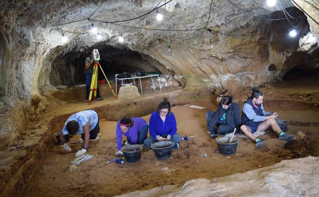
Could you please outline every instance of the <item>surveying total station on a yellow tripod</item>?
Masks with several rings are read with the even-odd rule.
[[[115,98],[117,99],[117,96],[115,95],[113,89],[112,89],[112,86],[110,85],[110,83],[108,82],[105,74],[104,74],[104,71],[101,67],[101,64],[99,63],[100,61],[100,54],[99,54],[99,50],[97,49],[94,49],[93,50],[93,56],[94,56],[94,66],[93,66],[93,76],[92,76],[92,81],[91,81],[91,85],[90,85],[90,94],[89,94],[89,97],[88,97],[88,101],[87,103],[90,104],[91,103],[91,99],[92,99],[92,93],[94,93],[94,97],[93,99],[96,100],[96,95],[97,95],[97,89],[98,89],[98,70],[99,70],[99,67],[113,93],[113,95],[115,96]]]

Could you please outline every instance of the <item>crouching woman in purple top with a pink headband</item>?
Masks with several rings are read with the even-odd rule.
[[[126,136],[129,144],[143,144],[147,138],[148,125],[143,118],[124,117],[117,124],[116,135],[118,143],[118,151],[115,155],[123,156],[122,135]]]

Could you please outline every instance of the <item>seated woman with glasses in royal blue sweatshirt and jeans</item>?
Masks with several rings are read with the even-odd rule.
[[[179,147],[181,136],[176,133],[176,119],[171,112],[171,104],[164,98],[164,101],[158,104],[157,110],[152,113],[149,121],[150,137],[144,141],[144,145],[151,148],[151,144],[157,141],[172,141],[174,147]]]

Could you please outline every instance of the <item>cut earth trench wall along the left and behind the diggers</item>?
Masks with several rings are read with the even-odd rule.
[[[177,105],[198,101],[198,98],[186,97],[178,90],[143,98],[139,101],[117,100],[115,103],[93,107],[92,110],[98,112],[101,119],[109,121],[118,121],[124,116],[142,117],[156,110],[157,104],[163,100],[163,97],[168,97],[169,100],[177,98]],[[7,168],[0,172],[2,180],[0,182],[0,190],[2,191],[0,197],[21,195],[28,184],[28,179],[41,165],[41,158],[45,157],[50,147],[53,146],[55,140],[53,134],[61,130],[65,120],[73,113],[43,118],[41,128],[27,130],[28,133],[33,133],[33,135],[20,141],[18,148],[6,150],[9,152],[9,156],[6,152],[0,151],[1,161],[9,158]]]

